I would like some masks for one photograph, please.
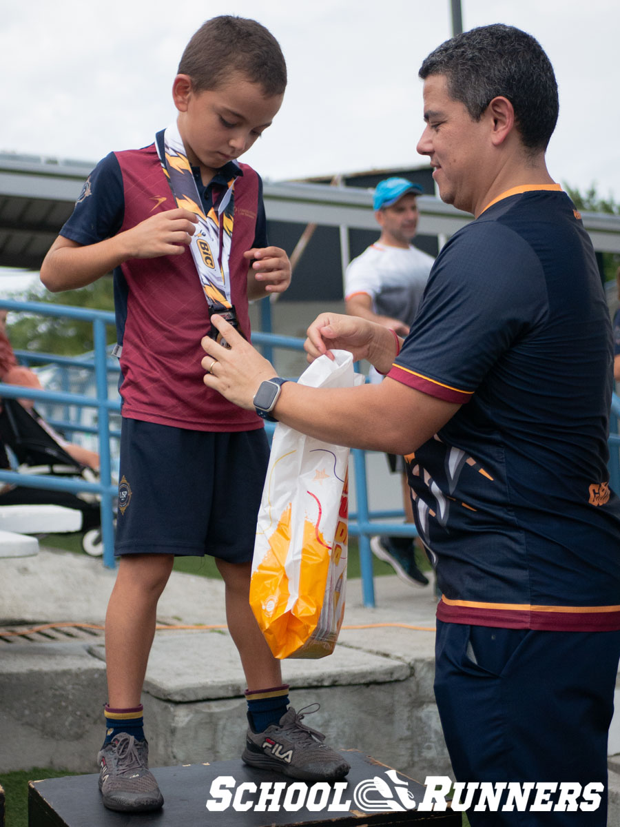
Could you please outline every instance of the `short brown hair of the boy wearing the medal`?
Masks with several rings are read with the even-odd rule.
[[[265,97],[281,95],[286,88],[284,55],[265,26],[246,17],[213,17],[185,47],[179,74],[188,74],[194,91],[204,92],[225,84],[235,71],[260,84]]]

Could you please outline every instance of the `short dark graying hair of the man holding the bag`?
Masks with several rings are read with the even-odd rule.
[[[475,121],[493,98],[508,98],[523,145],[546,150],[559,110],[556,75],[532,35],[501,23],[465,31],[437,46],[419,74],[446,75],[448,94]]]

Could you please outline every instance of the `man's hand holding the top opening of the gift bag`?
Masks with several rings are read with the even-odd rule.
[[[389,370],[396,352],[396,343],[387,327],[358,316],[321,313],[308,327],[303,344],[309,362],[330,350],[349,351],[355,361],[367,359],[378,370]]]

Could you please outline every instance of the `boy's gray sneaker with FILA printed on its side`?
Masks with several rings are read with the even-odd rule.
[[[255,732],[248,715],[250,726],[241,758],[251,767],[275,770],[302,781],[337,781],[345,777],[351,769],[345,759],[323,743],[325,735],[302,724],[304,711],[308,715],[317,710],[318,704],[299,712],[289,706],[279,724],[271,724],[265,732]]]

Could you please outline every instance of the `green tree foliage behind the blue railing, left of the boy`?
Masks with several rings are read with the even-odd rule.
[[[112,279],[99,279],[87,287],[50,293],[43,285],[19,297],[23,301],[57,304],[68,307],[113,310]],[[8,337],[16,350],[54,353],[57,356],[79,356],[93,350],[93,325],[79,319],[39,316],[31,313],[9,313]],[[116,342],[113,325],[107,326],[107,343]]]

